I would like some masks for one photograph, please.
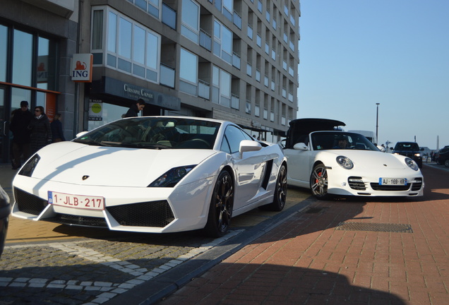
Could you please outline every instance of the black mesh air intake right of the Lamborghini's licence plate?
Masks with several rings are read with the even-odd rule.
[[[106,208],[112,217],[124,226],[165,227],[174,220],[167,201],[150,201]]]

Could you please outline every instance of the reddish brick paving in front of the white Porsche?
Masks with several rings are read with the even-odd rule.
[[[449,304],[448,173],[423,173],[424,198],[316,201],[160,304]]]

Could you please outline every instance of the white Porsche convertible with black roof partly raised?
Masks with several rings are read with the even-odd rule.
[[[341,196],[422,196],[424,179],[414,160],[378,150],[359,133],[337,130],[342,121],[296,119],[284,148],[287,182],[320,199]]]

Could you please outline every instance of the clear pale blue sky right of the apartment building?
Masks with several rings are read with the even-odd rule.
[[[300,1],[298,118],[449,145],[449,0]]]

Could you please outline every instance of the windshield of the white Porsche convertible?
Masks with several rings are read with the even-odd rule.
[[[376,145],[359,133],[323,131],[311,133],[313,150],[376,150]]]

